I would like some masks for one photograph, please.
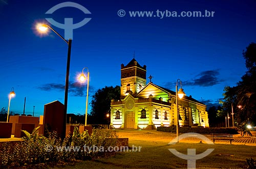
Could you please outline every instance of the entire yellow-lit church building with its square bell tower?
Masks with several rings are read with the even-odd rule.
[[[191,96],[178,99],[177,117],[176,92],[146,84],[146,66],[135,59],[121,64],[120,88],[120,100],[111,100],[111,128],[156,129],[177,125],[177,118],[181,127],[209,127],[206,105]]]

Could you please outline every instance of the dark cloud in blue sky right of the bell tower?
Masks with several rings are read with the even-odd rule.
[[[224,81],[218,77],[219,69],[202,71],[193,79],[182,81],[183,86],[200,86],[209,87],[219,84]],[[165,87],[176,85],[176,82],[166,82]]]

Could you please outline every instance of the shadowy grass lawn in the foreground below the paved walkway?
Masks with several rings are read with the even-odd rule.
[[[75,166],[63,168],[187,168],[187,160],[180,159],[168,149],[176,149],[187,154],[187,149],[196,149],[196,153],[203,153],[207,149],[215,149],[208,156],[196,161],[197,168],[246,168],[245,159],[256,159],[256,147],[243,145],[207,145],[178,143],[168,145],[167,142],[151,142],[129,140],[129,146],[141,146],[140,152],[121,152],[113,157],[83,161]],[[219,156],[218,154],[233,154]]]

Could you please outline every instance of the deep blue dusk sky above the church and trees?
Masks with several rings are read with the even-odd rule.
[[[91,14],[74,7],[46,14],[64,2],[0,0],[0,108],[8,108],[12,87],[16,96],[10,110],[18,114],[23,113],[25,97],[25,114],[32,114],[35,106],[35,116],[43,115],[49,102],[64,103],[68,45],[50,30],[39,34],[36,25],[49,24],[63,37],[65,31],[45,18],[62,24],[64,18],[73,18],[73,23],[91,18],[73,30],[68,113],[74,114],[86,109],[86,84],[76,80],[83,67],[91,76],[90,103],[98,89],[120,85],[120,65],[129,63],[134,52],[156,85],[175,91],[180,78],[187,96],[216,104],[224,87],[236,86],[245,74],[243,49],[256,42],[254,0],[72,1]],[[125,11],[122,17],[120,10]],[[206,10],[213,16],[179,17],[183,11],[205,15]],[[136,11],[144,16],[132,16]]]

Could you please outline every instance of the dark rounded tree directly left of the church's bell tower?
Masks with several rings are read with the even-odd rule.
[[[106,114],[110,114],[111,99],[120,100],[120,87],[105,87],[96,91],[90,105],[92,123],[108,124]]]

